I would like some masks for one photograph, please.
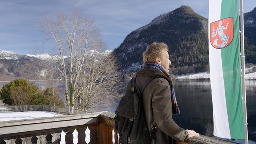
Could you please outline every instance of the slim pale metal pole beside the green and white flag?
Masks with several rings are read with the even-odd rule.
[[[244,44],[244,28],[243,28],[243,0],[240,0],[240,34],[241,34],[241,66],[242,66],[242,98],[243,98],[243,119],[245,126],[245,144],[248,144],[247,130],[247,110],[246,110],[246,93],[245,93],[245,44]]]

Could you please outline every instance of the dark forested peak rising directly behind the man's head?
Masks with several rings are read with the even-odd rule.
[[[191,7],[181,6],[164,13],[128,34],[113,51],[120,70],[131,73],[141,68],[142,53],[155,41],[168,45],[173,74],[208,70],[208,20]]]

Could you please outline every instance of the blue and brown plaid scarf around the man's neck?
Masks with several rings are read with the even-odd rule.
[[[161,65],[158,65],[157,63],[146,63],[144,64],[143,68],[152,68],[156,69],[160,72],[163,72],[165,76],[171,79],[170,74],[165,70],[165,68]],[[171,100],[172,100],[172,107],[173,107],[173,114],[180,114],[180,109],[178,107],[178,103],[175,97],[175,92],[173,89],[173,83],[170,83],[170,88],[171,88]]]

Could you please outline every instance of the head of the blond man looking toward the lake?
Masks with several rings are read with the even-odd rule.
[[[163,66],[168,72],[169,66],[171,65],[168,51],[168,46],[164,42],[153,42],[143,52],[143,63],[157,63]]]

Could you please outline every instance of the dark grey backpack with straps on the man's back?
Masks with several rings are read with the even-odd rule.
[[[151,139],[155,139],[157,126],[154,124],[150,130],[147,127],[142,92],[150,81],[159,77],[164,78],[163,76],[148,78],[141,90],[136,84],[137,76],[132,78],[130,93],[121,98],[115,111],[115,129],[119,133],[121,144],[150,144]]]

